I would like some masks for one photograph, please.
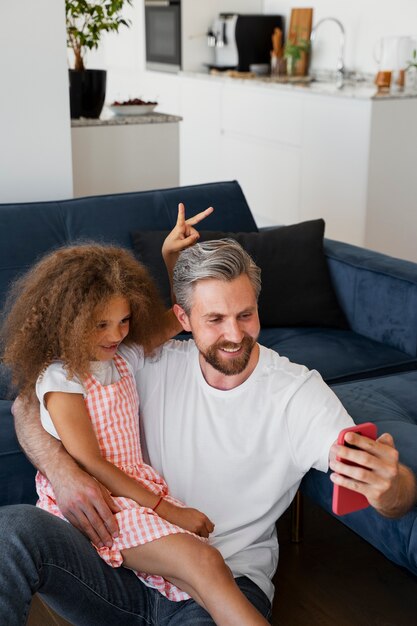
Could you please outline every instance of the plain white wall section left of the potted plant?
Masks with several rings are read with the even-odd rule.
[[[64,6],[0,2],[0,202],[72,196]]]

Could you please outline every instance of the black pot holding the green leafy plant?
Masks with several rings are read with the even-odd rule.
[[[69,70],[71,118],[100,117],[106,97],[106,70]]]

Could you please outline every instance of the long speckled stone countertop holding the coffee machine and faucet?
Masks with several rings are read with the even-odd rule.
[[[236,83],[252,87],[265,87],[275,91],[297,92],[319,96],[334,96],[337,98],[352,98],[358,100],[399,100],[417,98],[417,92],[410,92],[405,89],[391,91],[378,91],[377,87],[369,79],[352,80],[346,79],[342,87],[337,87],[336,80],[308,80],[302,77],[300,81],[285,78],[275,78],[273,76],[253,76],[234,77],[226,73],[208,74],[207,72],[181,72],[187,78],[199,78],[210,81]]]

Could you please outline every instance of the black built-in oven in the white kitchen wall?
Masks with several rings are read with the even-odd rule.
[[[181,69],[181,0],[145,0],[146,68]]]

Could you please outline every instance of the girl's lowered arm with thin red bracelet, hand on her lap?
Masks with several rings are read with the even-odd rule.
[[[100,481],[113,496],[125,496],[144,507],[153,509],[160,498],[101,455],[90,417],[81,394],[52,391],[45,404],[67,452]],[[213,530],[213,524],[200,511],[182,508],[162,500],[158,515],[203,537]]]

